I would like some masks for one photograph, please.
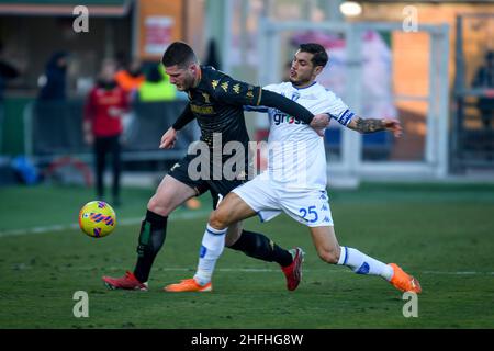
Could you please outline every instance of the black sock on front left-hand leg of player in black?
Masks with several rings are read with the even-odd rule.
[[[141,224],[141,234],[137,245],[137,263],[134,275],[142,283],[147,282],[156,254],[161,249],[167,236],[168,217],[158,215],[149,210]]]

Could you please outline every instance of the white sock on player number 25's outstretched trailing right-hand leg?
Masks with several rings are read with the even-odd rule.
[[[346,246],[341,247],[337,264],[346,265],[357,274],[379,275],[386,281],[390,281],[393,276],[393,269],[390,265]]]

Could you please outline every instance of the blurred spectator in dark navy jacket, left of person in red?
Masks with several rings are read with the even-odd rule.
[[[42,89],[40,91],[40,100],[65,100],[66,92],[66,73],[67,73],[66,52],[57,52],[46,64],[44,77],[41,78]]]

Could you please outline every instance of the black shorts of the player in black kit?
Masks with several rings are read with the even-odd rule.
[[[198,179],[193,180],[190,178],[188,169],[189,163],[192,161],[193,158],[195,158],[195,155],[187,155],[184,158],[182,158],[180,161],[173,165],[171,167],[170,171],[168,172],[168,176],[173,177],[179,182],[189,185],[190,188],[195,190],[195,195],[202,195],[206,191],[211,192],[211,195],[213,197],[213,208],[216,208],[216,204],[218,201],[218,194],[222,196],[226,196],[227,193],[229,193],[235,188],[244,184],[247,181],[247,177],[244,177],[245,179],[221,179],[221,180],[213,180],[213,172],[211,170],[210,177],[207,179]]]

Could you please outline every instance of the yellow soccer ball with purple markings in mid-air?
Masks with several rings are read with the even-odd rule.
[[[105,237],[115,229],[115,212],[104,201],[88,202],[79,212],[79,226],[90,237]]]

